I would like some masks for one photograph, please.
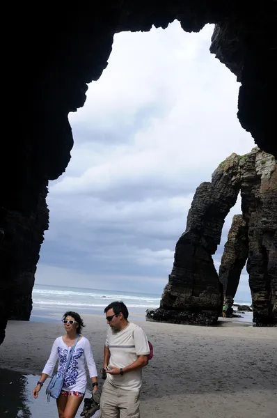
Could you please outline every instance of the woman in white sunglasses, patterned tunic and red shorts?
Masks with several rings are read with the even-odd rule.
[[[35,389],[33,389],[33,397],[35,399],[38,398],[38,393],[40,392],[43,383],[48,376],[52,376],[57,360],[58,371],[63,371],[63,367],[65,367],[70,353],[70,348],[74,345],[74,342],[79,335],[79,341],[74,348],[68,370],[65,373],[61,394],[56,401],[59,418],[74,418],[86,392],[85,359],[90,378],[93,382],[93,393],[96,392],[98,386],[97,370],[90,343],[85,336],[81,335],[81,329],[84,327],[84,322],[79,314],[72,311],[65,312],[62,321],[65,326],[66,334],[59,336],[54,341],[51,354],[42,371],[40,380]]]

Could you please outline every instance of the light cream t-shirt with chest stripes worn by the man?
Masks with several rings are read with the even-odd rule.
[[[109,348],[111,366],[122,367],[134,363],[139,355],[150,353],[147,336],[138,325],[129,323],[124,330],[114,332],[109,328],[105,346]],[[122,389],[139,391],[142,383],[142,369],[128,371],[123,376],[110,375],[106,373],[107,380],[111,385],[122,387]]]

